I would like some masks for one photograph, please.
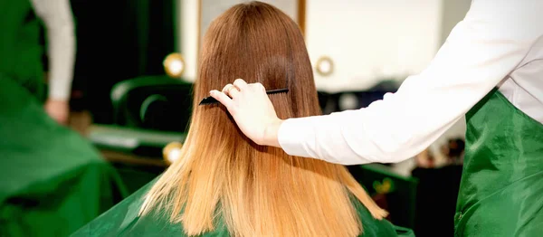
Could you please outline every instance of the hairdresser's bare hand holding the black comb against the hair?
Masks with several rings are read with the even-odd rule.
[[[245,136],[258,145],[280,147],[277,132],[282,120],[261,83],[237,79],[223,91],[211,90],[210,94],[228,109]]]

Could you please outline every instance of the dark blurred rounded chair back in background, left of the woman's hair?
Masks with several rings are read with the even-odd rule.
[[[192,86],[166,75],[121,81],[111,90],[114,123],[185,132],[192,111]]]

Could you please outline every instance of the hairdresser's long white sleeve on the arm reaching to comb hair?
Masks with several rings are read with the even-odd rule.
[[[530,26],[540,25],[540,13],[529,2],[473,1],[428,68],[395,94],[366,109],[287,119],[279,129],[281,147],[344,165],[420,153],[519,67],[541,30]]]

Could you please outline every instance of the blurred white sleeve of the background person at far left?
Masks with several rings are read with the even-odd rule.
[[[46,26],[49,54],[49,98],[68,100],[75,61],[75,33],[69,0],[32,0]]]

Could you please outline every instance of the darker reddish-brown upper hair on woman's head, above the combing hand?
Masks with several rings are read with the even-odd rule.
[[[282,117],[319,114],[310,58],[300,29],[271,5],[235,5],[210,25],[195,81],[195,102],[236,78],[260,82],[268,90],[288,88],[286,94],[271,96]],[[197,107],[195,116],[209,110],[220,109]]]

